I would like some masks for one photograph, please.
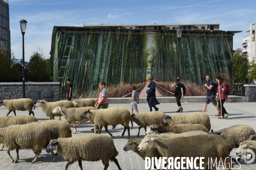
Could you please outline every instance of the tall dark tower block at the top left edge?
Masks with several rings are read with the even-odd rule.
[[[11,36],[8,0],[0,0],[0,50],[11,52]]]

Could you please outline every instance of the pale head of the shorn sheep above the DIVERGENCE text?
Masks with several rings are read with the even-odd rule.
[[[140,152],[143,152],[144,150],[148,150],[151,149],[152,147],[154,147],[155,144],[155,140],[158,137],[155,136],[155,133],[153,133],[152,135],[149,136],[145,136],[144,139],[140,142],[139,146],[138,146],[138,150]]]

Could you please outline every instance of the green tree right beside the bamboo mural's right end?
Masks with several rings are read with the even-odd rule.
[[[233,56],[233,80],[243,82],[248,74],[249,60],[247,55],[238,53]]]

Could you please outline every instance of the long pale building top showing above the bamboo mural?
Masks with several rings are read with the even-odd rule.
[[[84,24],[85,28],[119,28],[119,29],[149,29],[149,30],[175,30],[182,26],[183,30],[219,30],[219,23],[180,23],[180,24]]]

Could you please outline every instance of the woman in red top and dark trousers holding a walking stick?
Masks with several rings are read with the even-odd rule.
[[[227,119],[229,113],[227,113],[226,109],[223,107],[224,102],[227,100],[227,85],[223,82],[223,78],[221,76],[216,77],[216,82],[219,82],[219,86],[215,99],[219,99],[218,108],[222,111],[222,115],[218,114],[217,116],[222,116],[222,119]],[[218,94],[218,92],[220,93]],[[218,119],[221,119],[221,117],[218,117]]]

